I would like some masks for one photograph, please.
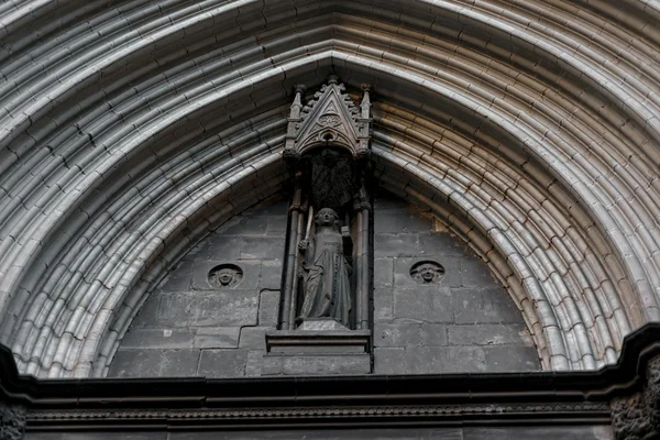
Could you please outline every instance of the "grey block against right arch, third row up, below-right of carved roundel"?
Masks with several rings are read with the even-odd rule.
[[[522,322],[522,316],[503,288],[452,289],[457,323]]]

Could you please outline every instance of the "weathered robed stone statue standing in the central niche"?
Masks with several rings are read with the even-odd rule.
[[[351,266],[343,246],[343,241],[350,240],[350,233],[346,227],[339,232],[339,218],[330,208],[321,209],[315,222],[316,234],[298,244],[305,253],[305,298],[296,321],[331,318],[350,328]]]

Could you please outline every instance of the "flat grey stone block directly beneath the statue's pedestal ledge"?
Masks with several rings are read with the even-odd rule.
[[[263,376],[314,376],[314,375],[348,375],[369,374],[371,359],[363,354],[316,354],[287,355],[266,354],[263,359]]]

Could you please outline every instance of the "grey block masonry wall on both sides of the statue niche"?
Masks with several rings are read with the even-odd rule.
[[[374,204],[374,372],[540,370],[521,315],[488,268],[428,212],[381,196]],[[275,329],[287,222],[285,200],[233,218],[186,255],[127,332],[109,376],[257,376]],[[444,267],[419,285],[410,266]],[[221,264],[234,286],[209,283]]]

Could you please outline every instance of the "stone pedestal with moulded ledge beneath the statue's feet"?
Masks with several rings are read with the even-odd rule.
[[[297,330],[266,333],[263,376],[371,373],[371,331],[329,320],[307,320]]]

